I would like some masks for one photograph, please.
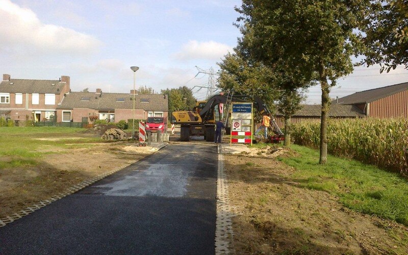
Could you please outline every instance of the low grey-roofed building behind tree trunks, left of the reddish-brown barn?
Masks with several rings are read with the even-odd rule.
[[[305,120],[320,121],[322,113],[321,105],[302,105],[302,109],[297,111],[291,118],[292,123],[299,123]],[[330,105],[328,112],[329,118],[344,119],[344,118],[364,118],[363,111],[353,105]],[[285,126],[285,120],[282,113],[276,112],[276,123],[279,127]]]

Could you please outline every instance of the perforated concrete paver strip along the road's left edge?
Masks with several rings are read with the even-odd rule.
[[[167,145],[168,145],[168,143],[161,144],[159,147],[157,147],[157,150],[154,153],[159,151],[161,148],[166,147]],[[89,185],[94,184],[97,181],[100,181],[100,180],[104,179],[105,177],[108,177],[109,175],[112,175],[112,174],[122,170],[123,168],[126,168],[126,167],[128,167],[128,166],[130,166],[132,164],[135,164],[138,161],[139,160],[134,160],[134,161],[131,161],[131,163],[124,164],[124,165],[116,167],[116,168],[114,168],[112,170],[109,170],[109,171],[106,171],[104,173],[98,174],[98,175],[96,175],[95,177],[93,177],[91,179],[85,180],[85,181],[83,181],[83,182],[81,182],[81,183],[79,183],[77,185],[74,185],[74,186],[71,186],[71,187],[67,188],[65,191],[63,191],[63,192],[61,192],[61,193],[59,193],[57,195],[54,195],[54,196],[52,196],[52,197],[50,197],[48,199],[41,200],[41,201],[35,203],[34,205],[32,205],[31,207],[27,207],[27,208],[25,208],[25,209],[23,209],[23,210],[21,210],[21,211],[19,211],[17,213],[14,213],[12,215],[8,215],[8,216],[6,216],[4,218],[1,218],[0,219],[0,227],[4,227],[4,226],[6,226],[7,224],[9,224],[9,223],[11,223],[13,221],[21,219],[22,217],[27,216],[27,215],[37,211],[38,209],[41,209],[41,208],[45,207],[45,206],[48,206],[50,203],[55,202],[55,201],[57,201],[57,200],[59,200],[59,199],[61,199],[63,197],[66,197],[68,195],[76,193],[76,192],[88,187]]]

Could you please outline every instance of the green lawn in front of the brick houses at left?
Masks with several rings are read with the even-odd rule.
[[[36,158],[59,153],[60,149],[81,147],[84,143],[100,141],[84,135],[85,129],[70,127],[0,127],[0,169],[21,165],[35,165]],[[81,139],[72,139],[81,137]],[[58,140],[38,140],[38,139]],[[86,145],[89,147],[90,145]]]

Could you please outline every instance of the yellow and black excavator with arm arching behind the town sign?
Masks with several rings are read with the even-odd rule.
[[[214,142],[216,119],[221,120],[218,105],[225,105],[226,101],[227,95],[214,95],[207,101],[197,101],[196,107],[194,107],[193,111],[172,112],[170,122],[172,124],[180,124],[181,126],[180,140],[190,141],[190,136],[204,136],[206,141]],[[271,112],[264,101],[257,96],[251,97],[247,95],[234,95],[232,96],[231,101],[233,103],[253,103],[254,108],[258,110],[259,114],[271,116]],[[230,111],[230,109],[225,109],[225,111]],[[272,120],[271,127],[273,132],[276,134],[276,136],[283,137],[284,134],[282,133],[281,129],[279,129],[276,122]],[[228,130],[229,129],[227,127],[227,134]]]

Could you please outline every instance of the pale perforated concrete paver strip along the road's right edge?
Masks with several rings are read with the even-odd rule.
[[[220,145],[217,146],[217,152]],[[234,237],[230,198],[228,196],[227,178],[224,173],[224,155],[218,154],[217,174],[217,216],[215,226],[215,254],[229,254]]]

